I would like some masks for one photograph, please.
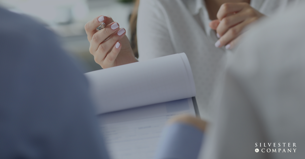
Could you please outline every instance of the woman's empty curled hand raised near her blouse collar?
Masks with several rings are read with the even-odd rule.
[[[217,20],[210,22],[210,27],[216,30],[219,40],[216,47],[225,45],[232,49],[239,41],[242,30],[264,15],[253,9],[249,3],[224,3],[217,12]]]

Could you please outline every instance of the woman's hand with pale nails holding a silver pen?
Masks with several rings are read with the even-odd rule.
[[[104,22],[106,27],[96,29]],[[85,25],[90,42],[90,53],[102,68],[137,62],[124,28],[120,28],[111,17],[99,16]]]

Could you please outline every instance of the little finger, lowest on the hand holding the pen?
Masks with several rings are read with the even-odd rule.
[[[117,58],[117,55],[120,53],[121,48],[122,48],[122,45],[120,42],[117,42],[113,46],[112,50],[107,54],[107,56],[105,57],[105,60],[103,61],[103,65],[105,68],[116,66],[115,59]]]

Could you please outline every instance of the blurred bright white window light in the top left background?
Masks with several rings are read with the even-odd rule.
[[[82,21],[89,9],[86,0],[0,0],[1,5],[36,17],[48,25]]]

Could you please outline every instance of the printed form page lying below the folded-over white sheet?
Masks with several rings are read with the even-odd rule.
[[[111,158],[153,159],[167,120],[185,113],[195,115],[192,98],[100,115]]]

